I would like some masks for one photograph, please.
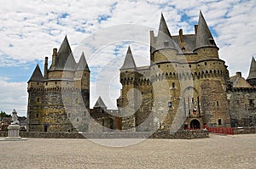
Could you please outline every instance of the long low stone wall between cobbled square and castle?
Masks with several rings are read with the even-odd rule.
[[[0,132],[0,137],[7,137],[8,132]],[[102,132],[102,133],[71,133],[71,132],[20,132],[22,138],[166,138],[166,139],[193,139],[208,138],[207,131],[164,132],[154,134],[148,132]]]

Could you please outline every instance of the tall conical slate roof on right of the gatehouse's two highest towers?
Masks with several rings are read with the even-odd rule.
[[[199,14],[199,20],[198,20],[198,26],[196,28],[196,35],[195,35],[195,50],[197,48],[203,48],[203,47],[215,47],[218,48],[214,42],[214,39],[212,37],[212,33],[209,30],[209,27],[207,25],[207,22],[203,16],[203,14],[200,11]]]

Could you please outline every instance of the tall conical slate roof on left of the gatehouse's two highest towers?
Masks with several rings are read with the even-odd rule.
[[[177,50],[175,42],[173,42],[172,40],[172,36],[168,29],[168,26],[166,25],[166,20],[163,14],[161,14],[160,25],[158,29],[158,36],[157,36],[157,40],[154,48],[155,49],[172,48]]]

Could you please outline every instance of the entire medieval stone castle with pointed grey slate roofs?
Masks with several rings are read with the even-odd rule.
[[[256,126],[256,62],[247,80],[230,76],[218,57],[207,22],[200,12],[195,34],[172,36],[161,15],[158,34],[150,31],[148,66],[137,67],[129,47],[120,68],[118,110],[99,98],[90,109],[90,69],[79,63],[65,37],[45,58],[44,76],[37,65],[28,81],[30,132],[147,132]],[[96,121],[91,123],[90,121]],[[97,125],[98,124],[98,125]]]

